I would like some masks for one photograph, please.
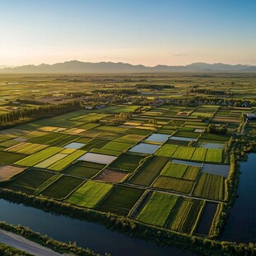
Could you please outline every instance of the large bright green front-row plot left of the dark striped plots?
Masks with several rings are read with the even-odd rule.
[[[177,201],[177,196],[153,192],[136,220],[149,225],[164,226]]]

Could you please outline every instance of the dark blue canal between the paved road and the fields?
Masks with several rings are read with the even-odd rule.
[[[41,235],[69,244],[76,241],[78,246],[111,255],[195,255],[172,247],[157,244],[108,230],[104,225],[85,220],[57,216],[50,212],[0,199],[0,220],[13,225],[23,225]]]

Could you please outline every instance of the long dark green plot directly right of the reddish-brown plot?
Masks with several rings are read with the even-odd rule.
[[[141,166],[140,170],[135,173],[132,178],[130,178],[129,183],[149,186],[153,183],[154,179],[159,175],[167,162],[168,159],[164,157],[153,156]]]

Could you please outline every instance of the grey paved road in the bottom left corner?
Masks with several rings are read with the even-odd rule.
[[[21,235],[16,235],[5,230],[0,230],[0,243],[10,245],[36,256],[63,256],[63,254],[55,253],[55,251],[41,246],[40,244],[36,244]]]

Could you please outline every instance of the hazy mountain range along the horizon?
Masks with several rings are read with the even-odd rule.
[[[147,67],[144,65],[132,65],[113,62],[81,62],[78,60],[66,61],[56,64],[24,65],[7,68],[0,66],[0,73],[168,73],[168,72],[252,72],[256,66],[243,64],[206,64],[193,63],[185,66],[156,65]]]

